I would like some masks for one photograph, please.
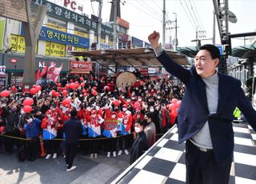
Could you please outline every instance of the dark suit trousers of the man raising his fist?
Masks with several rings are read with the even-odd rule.
[[[187,184],[228,184],[231,162],[218,166],[214,151],[199,150],[190,140],[186,140],[186,183]]]

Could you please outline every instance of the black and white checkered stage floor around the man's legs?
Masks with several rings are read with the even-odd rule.
[[[185,183],[185,143],[170,129],[112,183]],[[230,184],[256,184],[256,133],[247,123],[234,123],[234,162]]]

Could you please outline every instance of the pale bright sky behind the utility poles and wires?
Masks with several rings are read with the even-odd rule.
[[[73,0],[70,0],[73,1]],[[83,6],[83,13],[98,15],[98,2],[90,0],[74,0]],[[221,0],[222,1],[222,0]],[[64,0],[50,0],[60,5]],[[103,0],[102,22],[108,22],[110,18],[110,0]],[[162,42],[162,7],[163,0],[121,0],[121,18],[130,22],[128,34],[148,42],[147,37],[154,30],[160,32]],[[256,0],[229,0],[229,10],[238,18],[237,23],[229,23],[230,34],[256,31],[254,14]],[[166,0],[166,20],[174,21],[177,14],[178,22],[178,46],[195,46],[191,42],[196,38],[196,30],[206,31],[202,44],[212,43],[214,4],[212,0]],[[173,23],[166,24],[166,43],[174,39]],[[220,43],[218,26],[216,24],[216,43]],[[202,32],[201,32],[202,33]],[[202,35],[203,34],[199,34]],[[250,44],[246,39],[246,44]],[[244,39],[232,39],[232,46],[243,46]]]

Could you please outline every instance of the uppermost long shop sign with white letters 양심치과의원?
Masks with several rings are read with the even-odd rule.
[[[97,30],[97,22],[90,20],[90,18],[87,18],[86,16],[77,14],[46,0],[32,0],[32,2],[38,6],[46,5],[46,14],[49,14],[55,18],[62,19],[66,22],[74,22],[78,26],[86,26],[90,29]]]

